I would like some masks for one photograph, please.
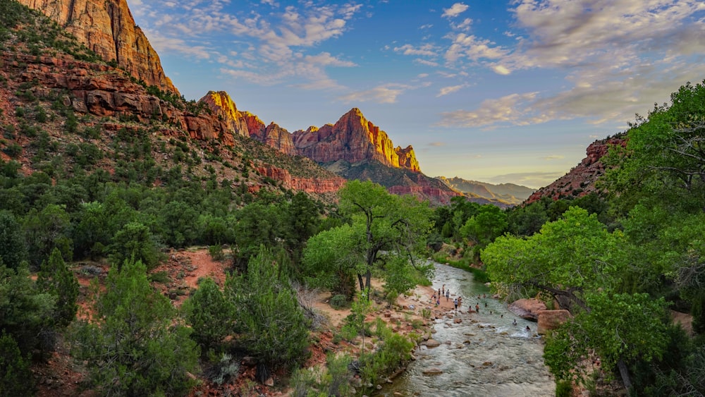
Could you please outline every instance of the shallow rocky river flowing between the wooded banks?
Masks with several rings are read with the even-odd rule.
[[[455,324],[448,317],[436,319],[432,337],[441,346],[421,346],[414,353],[417,360],[376,396],[556,395],[555,382],[542,358],[542,341],[535,334],[535,322],[515,316],[505,303],[491,298],[489,288],[474,281],[471,273],[436,264],[434,288],[443,284],[451,294],[462,296],[462,313],[457,316],[462,322]],[[483,294],[487,298],[482,298]],[[467,314],[468,306],[477,303],[479,314]],[[526,330],[527,326],[531,331]],[[431,368],[442,373],[424,374]]]

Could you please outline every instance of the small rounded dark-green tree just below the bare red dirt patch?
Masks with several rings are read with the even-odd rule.
[[[223,338],[233,333],[235,308],[209,277],[200,281],[181,310],[193,330],[191,337],[204,349],[218,346]]]

